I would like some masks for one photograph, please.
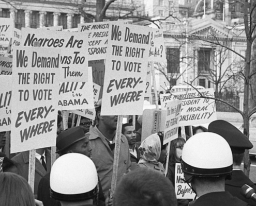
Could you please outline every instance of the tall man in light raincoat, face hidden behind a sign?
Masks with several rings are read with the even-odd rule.
[[[101,112],[101,99],[95,105],[98,124],[89,130],[89,140],[93,148],[93,162],[102,184],[104,196],[107,197],[113,173],[115,133],[117,116],[103,116]],[[126,137],[121,135],[120,154],[118,161],[117,182],[127,173],[131,166],[129,145]]]

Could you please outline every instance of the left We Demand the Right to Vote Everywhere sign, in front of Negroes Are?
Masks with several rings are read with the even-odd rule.
[[[14,47],[11,153],[55,146],[60,49]],[[42,59],[48,59],[43,64]]]

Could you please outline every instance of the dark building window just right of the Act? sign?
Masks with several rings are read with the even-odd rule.
[[[179,74],[179,49],[167,48],[167,73]]]

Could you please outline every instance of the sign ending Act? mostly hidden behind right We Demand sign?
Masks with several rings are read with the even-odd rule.
[[[150,36],[150,50],[148,61],[166,61],[162,29],[152,29]]]

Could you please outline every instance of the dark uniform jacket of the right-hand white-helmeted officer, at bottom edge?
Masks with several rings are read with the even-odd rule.
[[[233,197],[229,192],[214,192],[202,195],[198,199],[189,203],[189,206],[246,206],[237,197]]]

